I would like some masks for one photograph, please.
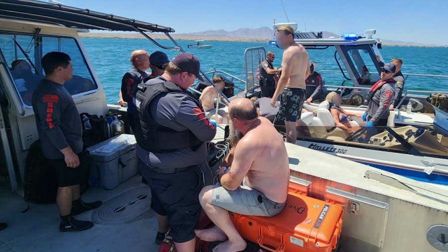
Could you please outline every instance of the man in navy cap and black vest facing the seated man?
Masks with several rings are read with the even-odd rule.
[[[216,134],[216,124],[186,91],[196,78],[202,80],[199,68],[193,54],[178,54],[163,75],[137,86],[133,101],[140,171],[159,224],[156,243],[170,229],[182,252],[195,248],[203,187],[199,164],[206,160],[206,141]]]

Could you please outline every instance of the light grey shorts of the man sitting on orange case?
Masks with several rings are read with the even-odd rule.
[[[285,208],[286,202],[271,201],[247,185],[239,186],[234,191],[215,185],[212,190],[212,205],[237,214],[272,217]]]

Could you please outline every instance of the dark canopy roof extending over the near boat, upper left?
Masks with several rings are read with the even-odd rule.
[[[158,24],[35,0],[0,0],[0,17],[55,23],[78,29],[174,32],[173,28]]]

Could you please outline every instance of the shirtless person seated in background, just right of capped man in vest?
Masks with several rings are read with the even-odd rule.
[[[218,97],[218,90],[222,92],[224,90],[225,86],[225,80],[223,77],[219,75],[215,75],[212,79],[214,86],[209,86],[205,88],[202,91],[201,97],[199,97],[199,101],[201,101],[202,108],[205,111],[205,115],[207,118],[212,119],[213,116],[216,114],[216,108],[213,104],[213,101],[215,98]],[[218,90],[217,90],[218,89]],[[220,99],[222,102],[224,102],[224,99]],[[223,123],[223,117],[227,118],[227,113],[224,110],[218,110],[218,118],[216,119],[216,122],[218,124]],[[228,120],[228,118],[227,118]]]

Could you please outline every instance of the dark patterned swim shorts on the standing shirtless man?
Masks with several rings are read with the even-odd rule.
[[[280,109],[277,120],[296,122],[302,116],[302,106],[306,91],[301,88],[285,88],[280,96]]]

